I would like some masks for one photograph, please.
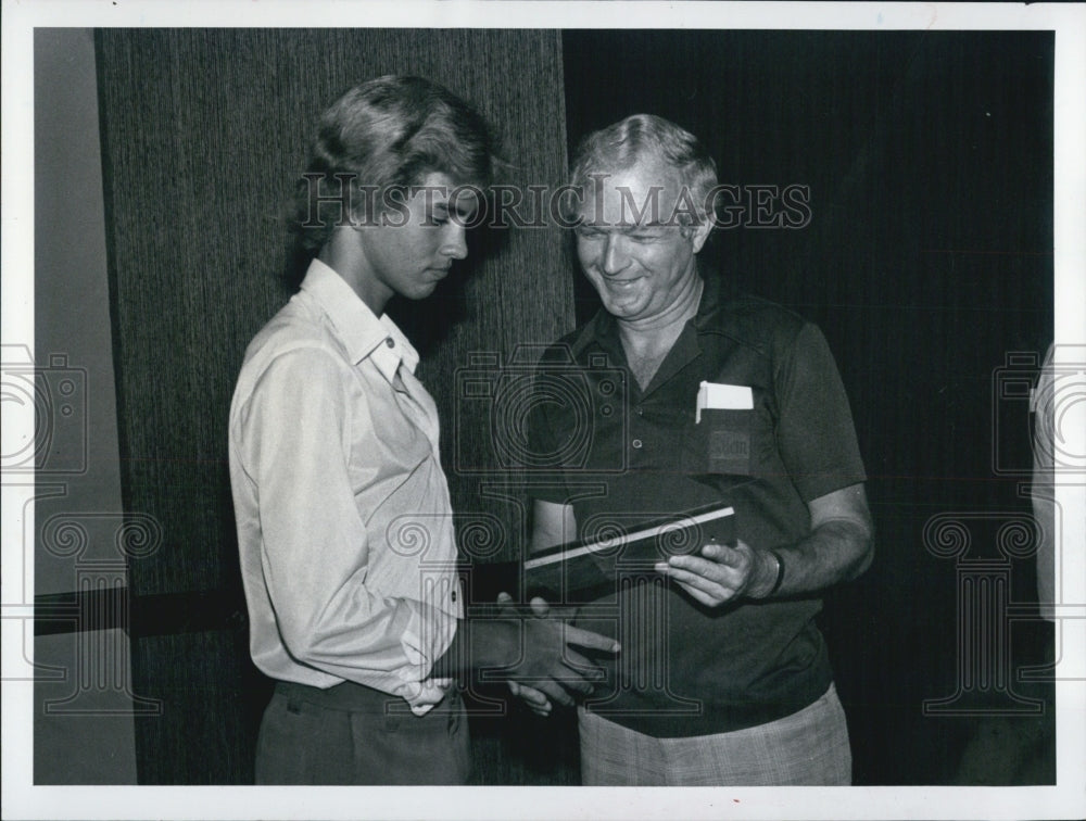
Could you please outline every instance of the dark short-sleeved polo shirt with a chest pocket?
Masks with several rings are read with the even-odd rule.
[[[529,495],[571,504],[578,536],[709,504],[735,509],[754,547],[808,535],[807,503],[864,480],[848,400],[817,327],[706,273],[697,315],[652,383],[628,371],[614,317],[601,311],[543,357],[558,375],[528,416],[536,467]],[[695,409],[700,382],[749,387],[750,410]],[[576,382],[576,384],[574,384]],[[583,603],[577,623],[622,643],[593,712],[657,737],[766,723],[815,702],[832,681],[813,623],[816,596],[707,608],[653,573],[622,577]]]

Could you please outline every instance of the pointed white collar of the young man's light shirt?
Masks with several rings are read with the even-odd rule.
[[[351,286],[320,260],[310,263],[302,290],[327,314],[352,364],[357,365],[372,357],[374,364],[389,381],[392,381],[401,364],[415,372],[418,352],[403,331],[388,314],[378,318]]]

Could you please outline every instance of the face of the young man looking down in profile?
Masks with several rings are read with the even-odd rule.
[[[393,294],[412,300],[429,296],[453,261],[467,256],[465,225],[475,216],[478,200],[465,188],[451,200],[454,191],[456,184],[446,175],[430,173],[418,186],[395,193],[392,207],[375,220],[378,224],[355,229],[366,288],[380,304]]]

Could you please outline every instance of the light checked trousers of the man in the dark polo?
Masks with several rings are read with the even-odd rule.
[[[815,704],[768,724],[654,738],[578,708],[581,782],[592,786],[848,785],[853,754],[831,684]]]

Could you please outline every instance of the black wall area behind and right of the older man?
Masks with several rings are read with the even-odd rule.
[[[993,442],[1028,464],[1027,420],[997,429],[992,391],[1052,333],[1052,49],[1044,31],[564,33],[571,146],[647,111],[698,135],[723,182],[810,186],[803,230],[719,231],[705,254],[818,321],[853,402],[879,553],[824,622],[860,783],[947,783],[965,733],[922,715],[954,693],[957,652],[955,563],[924,523],[1028,509],[1022,477],[993,470]],[[983,530],[970,558],[999,555]],[[1014,571],[1034,595],[1032,561]]]

